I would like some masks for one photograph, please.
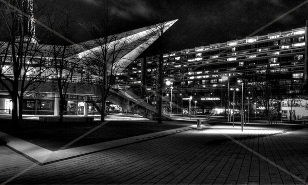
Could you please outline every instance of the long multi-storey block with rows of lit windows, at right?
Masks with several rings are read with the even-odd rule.
[[[118,86],[145,94],[143,98],[155,105],[157,58],[136,59],[117,76]],[[219,114],[229,107],[233,113],[234,101],[237,113],[241,106],[238,80],[243,81],[245,109],[250,106],[250,112],[274,111],[288,117],[290,105],[292,111],[295,107],[306,110],[306,103],[295,99],[306,97],[307,27],[170,52],[163,58],[164,80],[171,82],[163,89],[165,112]],[[300,117],[307,114],[297,112]]]

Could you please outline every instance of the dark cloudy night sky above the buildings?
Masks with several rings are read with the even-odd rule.
[[[102,0],[67,0],[78,12],[80,34],[86,33],[87,18]],[[153,23],[161,11],[164,19],[179,19],[166,36],[181,42],[170,50],[181,50],[241,39],[307,0],[112,0],[121,26],[136,29]],[[256,35],[304,27],[308,3]],[[86,38],[86,37],[84,37]]]

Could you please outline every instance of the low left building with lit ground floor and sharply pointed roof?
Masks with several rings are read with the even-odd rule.
[[[9,16],[2,16],[0,22],[12,25],[10,32],[1,30],[0,114],[12,114],[13,111],[13,117],[17,117],[17,112],[21,113],[17,110],[23,110],[22,114],[58,116],[60,105],[64,105],[66,115],[96,113],[100,107],[94,105],[101,104],[104,86],[98,81],[111,81],[160,37],[154,33],[157,25],[151,25],[111,36],[102,35],[83,43],[73,43],[56,33],[71,45],[57,45],[54,40],[50,40],[53,44],[44,44],[36,37],[44,34],[36,33],[33,0],[4,6],[7,11],[3,14]],[[12,7],[14,11],[9,11]],[[15,11],[19,8],[20,11]],[[176,21],[160,24],[166,31]],[[48,31],[54,33],[51,28]],[[100,57],[103,54],[108,60]],[[98,61],[103,61],[106,66],[106,75],[95,74],[102,71],[95,68],[99,66]],[[107,79],[103,79],[104,76]]]

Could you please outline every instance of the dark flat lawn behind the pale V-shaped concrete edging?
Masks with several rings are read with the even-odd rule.
[[[58,150],[75,138],[100,125],[99,122],[74,122],[59,124],[40,123],[36,120],[26,120],[19,129],[10,129],[10,120],[0,121],[0,131],[52,151]],[[192,123],[164,122],[163,124],[157,124],[157,122],[154,121],[110,121],[68,148],[80,147],[168,129],[176,129],[189,125],[192,125]]]

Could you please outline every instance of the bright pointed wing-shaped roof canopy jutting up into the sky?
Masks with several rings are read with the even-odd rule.
[[[158,37],[168,30],[178,19],[163,23],[131,30],[128,32],[108,36],[107,39],[97,38],[70,46],[71,50],[76,51],[74,57],[89,60],[102,55],[116,53],[116,62],[108,66],[108,71],[113,67],[113,71],[121,73],[133,60],[145,51]],[[160,28],[163,25],[163,30]],[[109,42],[106,42],[108,40]],[[118,52],[118,53],[117,53]],[[108,65],[108,64],[107,64]]]

